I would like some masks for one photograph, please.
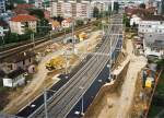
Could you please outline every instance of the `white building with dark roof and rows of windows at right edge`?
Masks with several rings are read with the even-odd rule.
[[[164,33],[164,17],[162,15],[147,15],[139,23],[138,34]]]

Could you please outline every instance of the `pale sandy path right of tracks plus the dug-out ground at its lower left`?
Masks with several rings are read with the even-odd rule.
[[[136,82],[138,73],[147,64],[147,59],[142,56],[136,57],[132,54],[133,47],[130,39],[127,40],[127,54],[130,59],[127,76],[122,86],[120,86],[120,95],[118,93],[105,93],[99,104],[95,107],[101,107],[98,115],[92,115],[92,118],[129,118],[129,110],[131,107]]]

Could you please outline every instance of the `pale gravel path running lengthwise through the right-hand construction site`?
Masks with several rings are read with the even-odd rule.
[[[136,57],[132,54],[132,43],[131,40],[127,42],[127,52],[128,57],[130,58],[130,64],[127,72],[127,76],[122,84],[121,88],[121,96],[118,101],[118,109],[116,111],[116,117],[114,118],[128,118],[129,108],[132,103],[134,90],[136,90],[136,82],[138,73],[141,71],[143,67],[147,64],[147,59],[142,56]]]

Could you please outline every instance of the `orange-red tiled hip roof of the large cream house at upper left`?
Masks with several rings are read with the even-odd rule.
[[[20,14],[11,19],[11,21],[14,22],[26,22],[26,21],[37,21],[37,20],[38,20],[37,17],[28,14]]]

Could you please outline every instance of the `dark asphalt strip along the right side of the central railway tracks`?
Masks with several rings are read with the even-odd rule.
[[[116,46],[116,50],[113,52],[113,59],[117,59],[117,56],[119,54],[118,49],[120,49],[122,46],[122,37],[119,37],[119,40]],[[81,118],[83,116],[83,113],[86,111],[87,107],[91,105],[93,99],[95,98],[96,94],[101,90],[101,87],[109,82],[109,68],[107,67],[108,62],[106,63],[103,71],[99,73],[99,75],[96,78],[94,83],[91,85],[91,87],[86,91],[86,93],[82,96],[82,98],[78,102],[78,104],[73,107],[73,109],[69,113],[67,118]]]

